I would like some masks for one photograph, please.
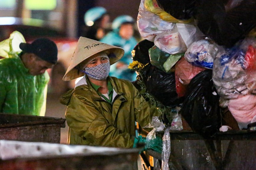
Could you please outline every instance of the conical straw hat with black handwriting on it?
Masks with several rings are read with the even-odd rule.
[[[110,54],[110,64],[116,63],[124,55],[124,50],[120,47],[112,46],[89,38],[80,37],[63,80],[68,81],[82,77],[84,73],[75,67],[83,61],[89,61],[91,56],[101,51],[106,51],[107,54]]]

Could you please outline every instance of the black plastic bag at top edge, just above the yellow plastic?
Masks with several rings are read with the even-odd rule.
[[[160,8],[176,19],[186,20],[193,16],[196,0],[156,0]]]

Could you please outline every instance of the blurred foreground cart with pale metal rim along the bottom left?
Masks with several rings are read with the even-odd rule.
[[[133,170],[140,149],[0,140],[0,169]]]

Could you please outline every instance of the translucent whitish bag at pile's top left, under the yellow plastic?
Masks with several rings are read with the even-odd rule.
[[[141,0],[137,25],[142,38],[154,42],[155,36],[165,30],[171,30],[174,23],[163,21],[159,16],[147,11],[144,7],[144,0]]]

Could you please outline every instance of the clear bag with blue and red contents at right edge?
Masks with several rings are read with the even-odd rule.
[[[255,39],[245,39],[214,59],[213,81],[224,99],[256,94]]]

